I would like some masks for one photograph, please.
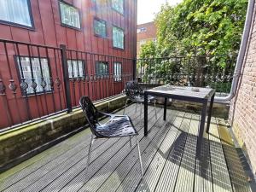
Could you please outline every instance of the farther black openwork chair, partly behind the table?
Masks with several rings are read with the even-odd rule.
[[[125,108],[127,107],[127,103],[129,100],[131,102],[136,102],[136,108],[135,111],[137,111],[137,104],[140,104],[140,119],[142,119],[142,110],[143,110],[143,103],[144,103],[144,94],[142,87],[137,83],[137,81],[127,81],[125,82],[125,94],[127,96],[126,102],[125,102]],[[156,106],[155,102],[156,99],[154,96],[148,96],[148,102],[154,101],[154,117],[157,119],[157,113],[156,113]],[[125,108],[124,113],[125,114]]]

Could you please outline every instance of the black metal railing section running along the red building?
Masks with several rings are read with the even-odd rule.
[[[101,100],[133,78],[130,58],[0,39],[0,131]],[[5,129],[6,128],[6,129]]]

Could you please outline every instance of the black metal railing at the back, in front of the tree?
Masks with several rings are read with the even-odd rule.
[[[193,55],[137,59],[137,80],[143,84],[212,87],[218,96],[230,93],[236,55]]]

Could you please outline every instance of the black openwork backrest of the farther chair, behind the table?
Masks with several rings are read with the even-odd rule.
[[[137,81],[127,81],[127,82],[125,82],[125,94],[131,100],[135,100],[135,97],[139,96],[141,93],[143,93],[143,89],[137,83]]]

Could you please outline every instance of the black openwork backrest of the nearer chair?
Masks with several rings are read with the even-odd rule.
[[[99,123],[98,121],[98,110],[94,106],[94,104],[90,101],[89,96],[82,96],[80,98],[80,107],[83,109],[85,113],[85,117],[89,123],[91,132],[97,136],[96,133],[96,125]]]

